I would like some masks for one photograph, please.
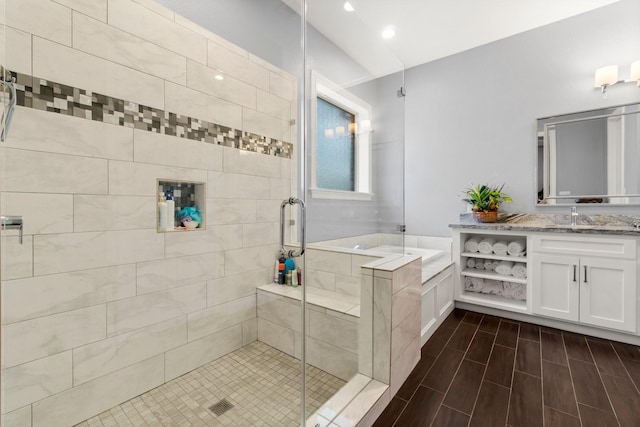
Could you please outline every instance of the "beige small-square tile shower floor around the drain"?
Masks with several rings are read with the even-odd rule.
[[[309,366],[307,414],[344,384]],[[255,341],[77,427],[299,426],[300,395],[300,361]],[[223,399],[233,407],[216,415],[209,408]]]

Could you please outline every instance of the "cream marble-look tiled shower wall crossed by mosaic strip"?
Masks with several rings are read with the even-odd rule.
[[[296,81],[148,0],[6,17],[0,424],[68,426],[265,334]],[[206,228],[159,233],[157,180],[205,183]]]

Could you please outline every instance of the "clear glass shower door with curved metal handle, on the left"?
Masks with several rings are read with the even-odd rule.
[[[303,302],[274,284],[280,205],[304,199],[302,17],[1,3],[0,213],[23,222],[0,248],[2,426],[302,425]]]

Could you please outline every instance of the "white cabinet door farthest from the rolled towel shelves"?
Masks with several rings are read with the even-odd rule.
[[[635,262],[583,257],[580,264],[580,321],[635,332]]]

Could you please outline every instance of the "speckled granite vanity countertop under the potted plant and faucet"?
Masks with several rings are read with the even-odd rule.
[[[451,228],[505,231],[537,231],[551,233],[617,234],[640,236],[640,217],[627,215],[578,215],[578,225],[571,224],[570,215],[560,214],[500,214],[494,223],[482,223],[473,214],[460,214],[460,222]]]

